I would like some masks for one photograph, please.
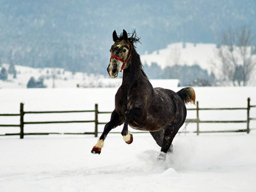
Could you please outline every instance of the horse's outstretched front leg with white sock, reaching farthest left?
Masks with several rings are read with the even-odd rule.
[[[104,146],[104,140],[106,139],[109,131],[111,131],[111,129],[117,127],[118,125],[121,125],[122,123],[123,122],[122,120],[120,120],[120,116],[118,115],[118,113],[116,113],[116,111],[113,111],[110,122],[105,125],[104,131],[102,132],[99,140],[92,148],[92,154],[100,154],[101,148]]]

